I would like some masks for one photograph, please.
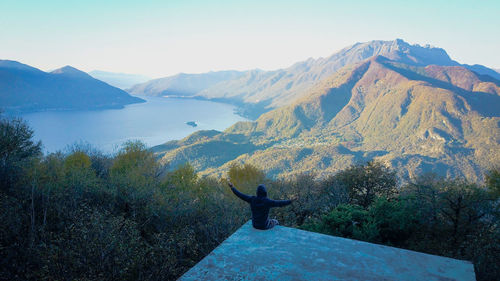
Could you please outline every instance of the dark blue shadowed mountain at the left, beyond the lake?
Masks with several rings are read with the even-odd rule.
[[[120,108],[138,102],[144,100],[71,66],[44,72],[16,61],[0,60],[0,104],[3,110]]]

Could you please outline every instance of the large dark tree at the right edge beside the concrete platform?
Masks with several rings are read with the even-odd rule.
[[[487,189],[463,179],[426,174],[404,186],[419,215],[410,248],[474,262],[478,280],[499,280],[498,203]]]

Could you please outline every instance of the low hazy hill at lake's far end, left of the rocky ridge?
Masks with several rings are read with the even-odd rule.
[[[193,96],[196,93],[226,80],[244,75],[240,71],[217,71],[202,74],[180,73],[138,84],[128,90],[133,95],[145,96]]]

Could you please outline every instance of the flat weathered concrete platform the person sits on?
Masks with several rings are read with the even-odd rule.
[[[179,280],[476,280],[470,262],[250,222]]]

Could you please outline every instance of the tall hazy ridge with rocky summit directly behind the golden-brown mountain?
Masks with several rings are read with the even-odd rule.
[[[409,45],[403,40],[356,43],[327,58],[308,59],[286,69],[247,73],[247,75],[217,84],[199,93],[210,98],[238,98],[246,103],[261,104],[272,109],[287,105],[322,79],[343,66],[367,58],[384,55],[411,65],[458,65],[443,49]]]

